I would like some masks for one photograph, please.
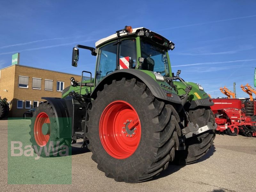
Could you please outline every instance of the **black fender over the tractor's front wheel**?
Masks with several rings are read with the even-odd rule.
[[[56,116],[57,131],[59,138],[71,138],[71,118],[68,114],[68,108],[64,99],[54,97],[42,97],[51,105]]]

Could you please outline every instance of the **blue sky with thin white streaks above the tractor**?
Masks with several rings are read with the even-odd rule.
[[[20,52],[20,65],[72,74],[94,73],[96,57],[76,44],[95,46],[101,38],[131,25],[146,27],[175,43],[172,71],[200,83],[212,97],[219,88],[248,97],[256,67],[256,1],[0,1],[0,68]],[[254,96],[255,97],[255,96]]]

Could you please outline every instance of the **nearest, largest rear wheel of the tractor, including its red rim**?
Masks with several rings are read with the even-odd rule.
[[[172,105],[156,99],[134,78],[105,84],[92,100],[86,133],[98,169],[128,183],[149,180],[165,170],[179,147],[175,113]]]

